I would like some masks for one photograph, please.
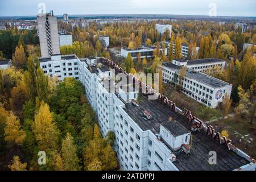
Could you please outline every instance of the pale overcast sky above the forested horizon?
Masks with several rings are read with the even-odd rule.
[[[0,16],[36,15],[39,3],[55,15],[208,15],[209,4],[215,3],[217,16],[256,16],[256,0],[0,0]]]

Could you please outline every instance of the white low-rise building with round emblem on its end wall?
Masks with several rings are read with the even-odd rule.
[[[188,97],[191,97],[197,102],[212,108],[217,107],[220,102],[224,101],[226,93],[228,94],[228,97],[230,97],[232,84],[201,73],[203,72],[203,69],[206,69],[204,66],[194,67],[193,64],[185,64],[187,64],[187,62],[177,62],[175,60],[173,60],[173,63],[163,63],[163,81],[170,84],[181,85],[181,91]],[[199,63],[195,65],[201,64]],[[180,82],[179,71],[183,66],[186,66],[187,70],[185,76],[183,77],[183,81]],[[199,69],[196,70],[193,68]]]

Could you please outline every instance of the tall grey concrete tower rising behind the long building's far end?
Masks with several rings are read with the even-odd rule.
[[[60,54],[57,18],[53,16],[53,11],[38,14],[37,20],[42,57]]]

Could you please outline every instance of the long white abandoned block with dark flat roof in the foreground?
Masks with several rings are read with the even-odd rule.
[[[74,77],[67,74],[73,73],[67,72],[67,68],[78,68],[75,78],[85,86],[102,135],[109,131],[115,134],[114,150],[122,169],[255,170],[255,160],[220,133],[215,133],[212,126],[206,126],[190,111],[179,109],[174,102],[125,73],[111,60],[56,55],[41,58],[40,67],[46,74],[52,73],[61,80]],[[132,88],[128,92],[123,90],[125,84],[117,89],[117,73],[130,78]],[[147,91],[138,93],[135,85]],[[156,99],[148,100],[150,95]],[[210,151],[216,151],[216,165],[208,163]]]

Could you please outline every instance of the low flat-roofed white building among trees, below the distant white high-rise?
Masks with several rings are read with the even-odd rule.
[[[131,53],[131,57],[133,57],[133,59],[137,59],[138,54],[141,53],[141,59],[152,59],[154,57],[153,52],[155,48],[155,46],[142,46],[134,49],[121,48],[121,56],[127,57],[128,53]],[[167,55],[167,48],[164,50],[163,48],[160,48],[160,50],[164,51],[164,54]]]

